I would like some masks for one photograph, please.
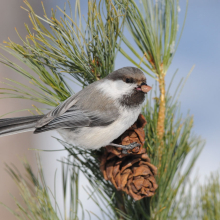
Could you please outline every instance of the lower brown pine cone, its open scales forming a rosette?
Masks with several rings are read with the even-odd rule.
[[[117,190],[126,192],[135,200],[153,196],[158,187],[155,180],[157,168],[150,163],[146,153],[119,158],[105,151],[100,170]]]

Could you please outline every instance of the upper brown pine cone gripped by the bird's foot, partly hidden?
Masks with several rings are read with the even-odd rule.
[[[116,140],[113,141],[115,144],[120,145],[129,145],[133,142],[137,142],[141,145],[141,147],[135,147],[132,150],[128,150],[129,154],[143,154],[144,153],[144,141],[145,141],[145,132],[144,127],[147,124],[144,116],[142,114],[139,115],[137,121],[126,130],[121,136],[119,136]],[[106,146],[106,149],[109,153],[112,153],[118,157],[125,157],[127,154],[122,153],[122,148]]]

